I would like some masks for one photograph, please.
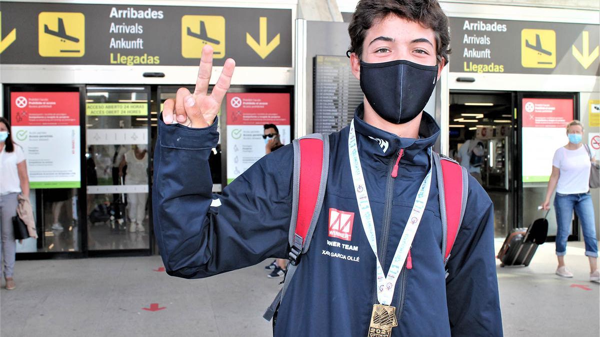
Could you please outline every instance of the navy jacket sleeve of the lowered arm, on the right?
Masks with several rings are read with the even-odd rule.
[[[446,267],[452,336],[502,336],[494,254],[494,206],[473,177],[463,223]]]

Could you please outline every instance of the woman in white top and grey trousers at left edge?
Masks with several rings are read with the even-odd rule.
[[[23,149],[13,143],[10,124],[0,117],[0,233],[2,234],[2,267],[5,287],[16,288],[13,280],[17,243],[14,239],[13,216],[17,215],[17,195],[29,198],[29,177]]]

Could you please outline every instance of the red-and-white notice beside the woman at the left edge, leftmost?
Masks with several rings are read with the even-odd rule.
[[[79,104],[79,92],[11,93],[11,132],[31,188],[80,187]]]

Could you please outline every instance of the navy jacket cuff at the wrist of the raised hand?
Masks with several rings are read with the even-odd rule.
[[[163,148],[202,150],[217,146],[219,133],[218,117],[206,128],[190,128],[181,124],[164,124],[161,113],[158,120],[158,135]]]

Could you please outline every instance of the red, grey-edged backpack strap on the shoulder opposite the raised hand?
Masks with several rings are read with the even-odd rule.
[[[442,218],[442,254],[444,265],[454,246],[469,194],[469,173],[456,161],[433,152]],[[448,274],[446,273],[446,277]]]

